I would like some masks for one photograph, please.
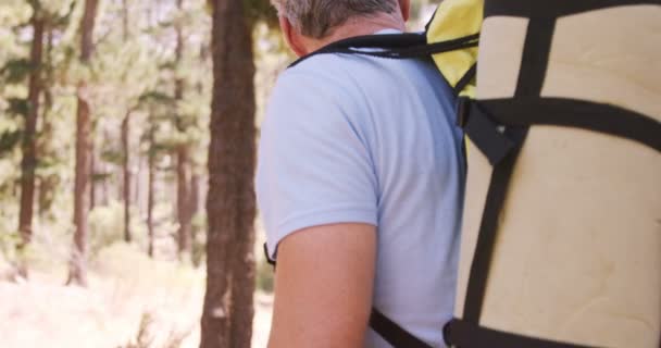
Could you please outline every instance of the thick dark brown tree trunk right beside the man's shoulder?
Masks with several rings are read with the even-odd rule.
[[[201,348],[248,348],[254,287],[254,64],[242,1],[213,1],[207,294]]]

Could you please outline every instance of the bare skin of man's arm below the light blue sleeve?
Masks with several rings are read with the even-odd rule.
[[[316,226],[283,239],[269,347],[362,347],[375,259],[372,225]]]

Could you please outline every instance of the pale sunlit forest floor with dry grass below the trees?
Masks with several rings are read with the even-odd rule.
[[[204,272],[111,248],[87,288],[64,286],[64,269],[0,282],[0,347],[198,347]],[[265,347],[273,298],[255,294],[252,347]]]

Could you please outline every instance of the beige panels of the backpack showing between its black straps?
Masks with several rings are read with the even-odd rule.
[[[659,11],[613,8],[560,18],[542,95],[612,102],[661,120]],[[517,17],[485,21],[478,99],[513,96],[526,26]],[[459,318],[490,175],[471,147]],[[661,156],[609,135],[534,126],[511,181],[481,324],[581,345],[657,348]]]

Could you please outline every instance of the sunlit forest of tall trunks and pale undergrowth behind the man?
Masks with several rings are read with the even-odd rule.
[[[294,59],[269,0],[2,0],[0,346],[264,347],[255,149]]]

